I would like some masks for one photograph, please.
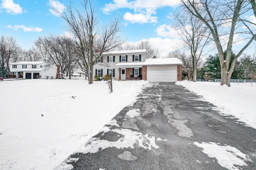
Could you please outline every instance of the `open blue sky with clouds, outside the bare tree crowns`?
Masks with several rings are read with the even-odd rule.
[[[65,34],[64,20],[51,11],[49,0],[1,0],[0,32],[12,36],[22,47],[29,49],[38,36]],[[78,0],[74,3],[79,4]],[[169,25],[179,0],[94,0],[94,9],[100,24],[113,16],[121,15],[121,36],[136,43],[147,39],[162,54],[167,54],[175,44]],[[69,0],[52,0],[60,11]]]

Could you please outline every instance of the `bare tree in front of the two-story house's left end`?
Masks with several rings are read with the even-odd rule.
[[[70,2],[62,13],[54,8],[66,21],[66,31],[76,38],[76,48],[79,55],[79,65],[88,74],[88,83],[93,83],[93,67],[102,53],[117,48],[122,44],[118,33],[121,30],[122,18],[112,19],[106,26],[99,28],[98,19],[92,6],[92,0],[80,0],[80,11]]]

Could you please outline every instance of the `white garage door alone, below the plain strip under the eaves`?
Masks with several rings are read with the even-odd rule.
[[[177,69],[147,70],[147,80],[149,82],[176,82]]]

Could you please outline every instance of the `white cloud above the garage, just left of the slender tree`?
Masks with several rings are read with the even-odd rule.
[[[166,37],[166,38],[180,38],[176,32],[176,30],[171,25],[160,25],[156,28],[156,34],[158,36]]]

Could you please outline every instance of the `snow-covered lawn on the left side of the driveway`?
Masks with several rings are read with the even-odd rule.
[[[84,79],[84,78],[83,78]],[[147,81],[0,83],[0,170],[52,170],[96,135]]]

